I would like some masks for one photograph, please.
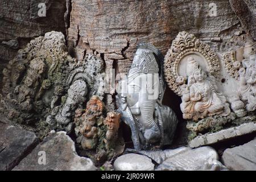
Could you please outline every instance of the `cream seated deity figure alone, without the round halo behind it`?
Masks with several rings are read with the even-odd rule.
[[[230,114],[229,104],[222,93],[217,92],[214,81],[207,77],[200,65],[192,57],[187,65],[188,85],[181,87],[183,102],[181,111],[184,119],[197,121],[207,116]]]

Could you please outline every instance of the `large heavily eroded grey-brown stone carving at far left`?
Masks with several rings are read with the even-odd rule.
[[[77,108],[93,94],[103,98],[104,63],[93,55],[82,62],[67,53],[61,32],[31,40],[3,69],[1,120],[35,129],[73,130]]]

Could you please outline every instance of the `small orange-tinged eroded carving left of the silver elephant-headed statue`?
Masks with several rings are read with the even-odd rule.
[[[118,132],[121,114],[105,113],[106,109],[100,98],[92,96],[86,109],[77,109],[75,115],[77,143],[85,150],[86,155],[94,152],[92,158],[96,163],[122,154],[125,147]]]

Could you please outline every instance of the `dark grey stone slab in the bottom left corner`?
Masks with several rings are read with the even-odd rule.
[[[0,171],[13,169],[37,143],[31,131],[0,122]]]

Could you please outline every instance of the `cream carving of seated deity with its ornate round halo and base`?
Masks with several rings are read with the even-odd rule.
[[[180,109],[189,130],[203,132],[236,118],[217,86],[220,63],[216,53],[193,34],[179,32],[164,59],[164,68],[168,86],[181,96]],[[242,115],[240,107],[233,107]]]

